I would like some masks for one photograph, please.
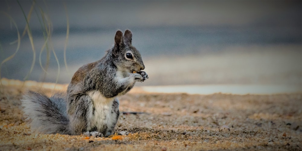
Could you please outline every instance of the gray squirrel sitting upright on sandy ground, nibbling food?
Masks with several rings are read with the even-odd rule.
[[[140,52],[132,46],[132,33],[117,31],[114,47],[94,63],[76,71],[66,94],[48,98],[28,91],[21,107],[31,128],[42,133],[108,137],[119,117],[117,96],[148,79]]]

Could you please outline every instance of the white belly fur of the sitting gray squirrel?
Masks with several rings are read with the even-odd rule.
[[[111,113],[114,98],[105,98],[99,91],[91,91],[88,95],[92,98],[93,105],[88,111],[87,130],[93,127],[99,129],[103,125],[107,125],[108,128],[112,127],[116,121],[116,113]],[[93,107],[95,108],[94,114]]]

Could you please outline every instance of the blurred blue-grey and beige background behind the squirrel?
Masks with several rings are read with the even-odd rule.
[[[69,83],[80,66],[104,56],[117,30],[130,29],[149,74],[138,86],[290,85],[302,91],[301,6],[292,0],[0,1],[1,78]],[[22,37],[27,21],[35,56],[28,34]],[[42,49],[44,23],[51,29],[48,49]],[[16,51],[18,31],[20,49],[5,60]]]

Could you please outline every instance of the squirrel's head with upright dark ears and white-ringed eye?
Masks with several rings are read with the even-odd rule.
[[[132,33],[117,31],[114,37],[114,47],[112,48],[112,57],[114,64],[127,72],[140,71],[145,69],[140,52],[132,46]]]

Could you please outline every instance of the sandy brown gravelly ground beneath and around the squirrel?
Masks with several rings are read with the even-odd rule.
[[[20,108],[26,89],[31,87],[0,89],[0,150],[302,150],[301,93],[189,95],[133,90],[119,98],[121,115],[115,130],[115,135],[124,130],[130,134],[114,140],[32,131]]]

